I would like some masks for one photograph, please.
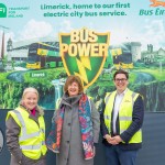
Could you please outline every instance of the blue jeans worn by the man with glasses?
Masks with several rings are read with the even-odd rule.
[[[119,145],[106,146],[107,165],[135,165],[138,150],[121,150]]]

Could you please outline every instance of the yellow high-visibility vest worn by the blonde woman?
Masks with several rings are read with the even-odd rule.
[[[19,144],[22,153],[32,160],[38,160],[41,155],[45,155],[47,147],[45,145],[45,122],[44,118],[38,117],[38,124],[29,118],[29,112],[19,107],[9,111],[7,119],[12,117],[20,125]]]

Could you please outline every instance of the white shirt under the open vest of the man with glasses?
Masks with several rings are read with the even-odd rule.
[[[121,101],[122,101],[127,90],[128,90],[128,88],[123,92],[121,92],[121,94],[117,92],[117,95],[116,95],[114,107],[113,107],[113,119],[112,119],[113,133],[117,133],[116,122],[117,122],[118,113],[119,113],[119,110],[120,110]]]

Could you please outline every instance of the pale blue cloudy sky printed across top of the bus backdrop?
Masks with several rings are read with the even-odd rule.
[[[165,2],[165,0],[163,0]],[[165,48],[165,10],[164,7],[150,7],[150,0],[2,0],[9,11],[11,8],[28,8],[29,10],[14,10],[23,18],[0,18],[0,25],[9,28],[6,30],[6,41],[9,37],[13,42],[30,40],[34,37],[52,36],[58,38],[58,33],[70,32],[72,30],[88,28],[97,32],[110,32],[110,44],[122,42],[141,42],[142,50],[146,50],[147,44],[153,44],[154,48]],[[120,8],[117,8],[117,3]],[[69,6],[72,9],[42,10],[46,6]],[[73,6],[92,6],[92,9],[73,9]],[[121,8],[123,4],[123,8]],[[100,7],[100,9],[95,7]],[[108,8],[109,7],[109,8]],[[111,8],[110,8],[111,7]],[[113,7],[113,8],[112,8]],[[118,6],[119,7],[119,6]],[[124,8],[125,7],[125,8]],[[75,16],[43,16],[44,13],[65,12],[68,15],[73,12]],[[85,16],[97,13],[97,16]],[[124,12],[125,15],[103,15],[100,12]],[[165,12],[165,11],[164,11]],[[82,13],[82,16],[78,16]],[[0,38],[2,29],[0,29]],[[1,41],[0,41],[1,42]],[[1,44],[0,44],[1,45]]]

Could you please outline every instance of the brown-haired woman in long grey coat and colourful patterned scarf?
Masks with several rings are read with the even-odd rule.
[[[69,76],[46,140],[47,147],[57,153],[57,165],[94,165],[99,131],[99,112],[84,94],[81,79]]]

